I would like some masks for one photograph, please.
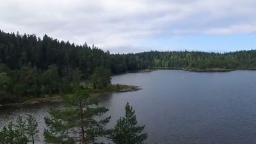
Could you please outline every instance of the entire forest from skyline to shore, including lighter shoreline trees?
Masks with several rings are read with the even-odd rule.
[[[79,81],[101,88],[111,75],[154,68],[256,69],[256,50],[111,54],[87,43],[0,31],[0,104],[71,92]]]

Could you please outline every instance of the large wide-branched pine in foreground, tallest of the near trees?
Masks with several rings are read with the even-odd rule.
[[[95,143],[97,137],[107,135],[104,129],[110,117],[103,120],[98,116],[108,111],[95,107],[97,101],[87,91],[77,87],[73,95],[63,95],[66,105],[50,111],[44,120],[49,129],[44,130],[47,143]]]

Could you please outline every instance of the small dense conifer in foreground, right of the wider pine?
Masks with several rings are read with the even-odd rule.
[[[143,143],[148,137],[147,133],[142,133],[145,126],[136,126],[135,110],[129,103],[126,104],[125,111],[125,116],[121,117],[114,126],[110,139],[117,144]]]

